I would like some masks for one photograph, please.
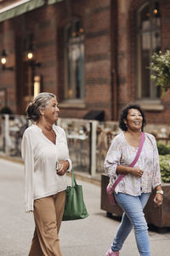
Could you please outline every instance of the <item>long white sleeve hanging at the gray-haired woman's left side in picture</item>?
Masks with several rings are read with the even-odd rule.
[[[34,174],[34,157],[31,147],[31,139],[28,134],[24,134],[21,143],[21,154],[25,161],[25,210],[33,211],[33,174]]]

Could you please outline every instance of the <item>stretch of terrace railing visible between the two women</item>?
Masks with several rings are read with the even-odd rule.
[[[104,160],[111,139],[118,133],[116,122],[96,120],[59,119],[68,139],[74,169],[94,177],[104,172]]]

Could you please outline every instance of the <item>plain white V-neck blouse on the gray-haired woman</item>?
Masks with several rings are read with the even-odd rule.
[[[25,209],[33,211],[34,200],[54,195],[67,187],[66,176],[56,174],[56,162],[68,160],[71,171],[71,160],[65,131],[53,125],[56,142],[45,137],[37,125],[31,125],[24,132],[21,143],[21,154],[25,161]]]

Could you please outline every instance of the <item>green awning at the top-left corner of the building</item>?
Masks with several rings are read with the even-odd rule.
[[[17,3],[10,4],[8,7],[0,9],[0,22],[42,7],[44,3],[45,0],[21,0]]]

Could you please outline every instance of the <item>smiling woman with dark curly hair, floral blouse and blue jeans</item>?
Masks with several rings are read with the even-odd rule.
[[[154,198],[156,207],[161,206],[163,191],[156,139],[149,133],[142,132],[144,125],[144,113],[138,105],[124,108],[119,121],[122,132],[113,139],[105,158],[105,172],[110,177],[111,188],[116,179],[124,174],[113,192],[116,202],[122,207],[122,222],[106,256],[119,255],[132,229],[139,255],[150,256],[148,227],[143,209],[150,197],[151,189],[156,189]],[[143,147],[138,160],[132,166],[139,152],[142,136],[144,136]]]

